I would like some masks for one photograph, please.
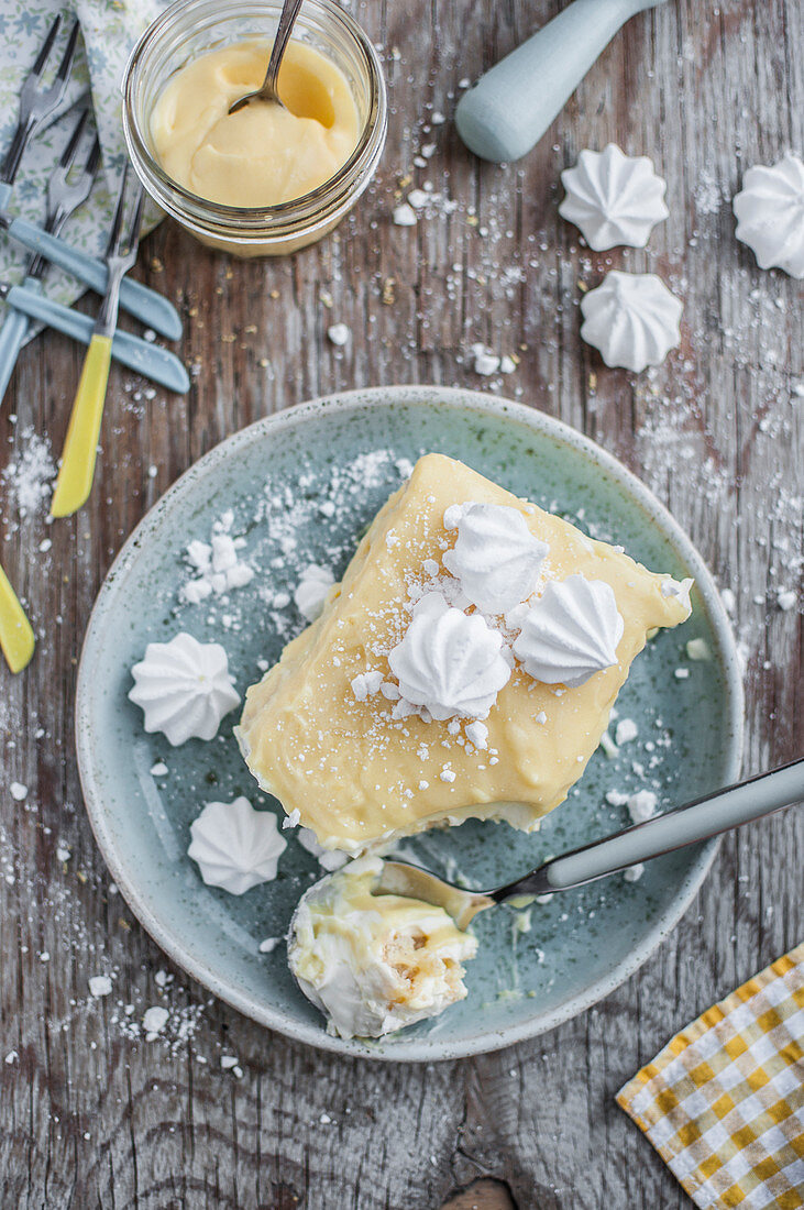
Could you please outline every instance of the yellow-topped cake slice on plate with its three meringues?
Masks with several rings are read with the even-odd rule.
[[[532,831],[584,772],[648,636],[689,616],[689,587],[428,454],[249,688],[243,754],[353,855],[467,818]]]

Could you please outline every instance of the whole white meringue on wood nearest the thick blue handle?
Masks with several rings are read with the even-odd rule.
[[[561,173],[566,197],[559,214],[574,223],[595,252],[644,248],[656,223],[670,213],[665,180],[647,156],[627,156],[615,143],[582,151],[574,168]]]

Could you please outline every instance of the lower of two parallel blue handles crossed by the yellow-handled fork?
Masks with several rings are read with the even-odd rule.
[[[35,290],[15,286],[7,295],[10,306],[24,311],[31,319],[46,323],[57,332],[63,332],[66,336],[79,340],[82,345],[88,345],[92,340],[94,319],[88,315],[79,315],[69,306],[53,302],[52,299],[37,294]],[[131,332],[116,332],[111,342],[111,356],[137,370],[152,382],[160,382],[170,391],[184,394],[190,390],[190,375],[185,367],[168,348],[161,345],[152,345],[140,336],[132,335]]]

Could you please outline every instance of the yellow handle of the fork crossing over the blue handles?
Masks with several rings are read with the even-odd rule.
[[[111,336],[93,336],[83,359],[81,381],[64,440],[62,466],[51,505],[53,517],[71,517],[77,513],[92,491],[110,363]]]

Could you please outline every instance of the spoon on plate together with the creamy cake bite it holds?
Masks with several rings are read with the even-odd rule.
[[[467,891],[404,862],[361,858],[322,878],[290,924],[290,970],[341,1037],[380,1037],[465,996],[462,963],[479,911],[571,891],[800,802],[804,760],[554,857],[488,891]]]

